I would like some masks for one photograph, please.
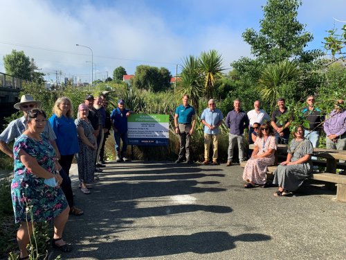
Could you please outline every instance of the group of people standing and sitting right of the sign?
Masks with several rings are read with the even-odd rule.
[[[196,124],[196,112],[189,105],[189,96],[183,96],[183,104],[176,108],[174,115],[175,132],[179,135],[180,150],[176,163],[183,162],[186,158],[192,163],[190,151],[190,135]],[[236,99],[233,103],[234,110],[228,112],[225,123],[229,128],[228,133],[228,160],[226,166],[233,162],[233,151],[237,143],[239,162],[246,160],[244,149],[244,130],[248,128],[249,144],[254,144],[252,153],[248,154],[248,161],[244,168],[243,179],[246,181],[244,188],[267,187],[267,167],[275,162],[275,150],[277,144],[289,144],[288,155],[275,171],[273,184],[279,189],[275,196],[286,196],[300,187],[303,180],[311,175],[313,166],[311,155],[313,148],[318,147],[322,129],[327,135],[327,148],[345,150],[346,148],[346,110],[344,101],[336,102],[335,109],[325,120],[323,112],[315,106],[314,96],[307,97],[307,106],[302,110],[302,119],[309,122],[309,128],[298,125],[293,132],[289,126],[293,119],[280,118],[286,114],[284,98],[277,100],[277,109],[272,115],[261,109],[260,101],[255,101],[254,110],[244,112],[241,109],[241,101]],[[216,108],[215,100],[208,101],[208,107],[201,114],[201,123],[204,125],[204,157],[203,164],[210,164],[210,146],[212,145],[212,164],[217,162],[219,126],[223,123],[224,116]],[[289,143],[290,134],[293,139]]]

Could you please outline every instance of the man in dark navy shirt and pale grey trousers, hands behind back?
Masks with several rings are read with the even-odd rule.
[[[228,159],[226,166],[232,165],[233,150],[235,142],[238,144],[239,162],[244,161],[244,129],[248,128],[249,120],[246,112],[240,109],[240,101],[236,99],[233,103],[234,110],[228,112],[226,116],[226,125],[230,128],[229,144],[228,144]]]

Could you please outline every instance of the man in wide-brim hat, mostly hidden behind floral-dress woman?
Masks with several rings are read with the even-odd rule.
[[[6,153],[6,155],[13,157],[13,151],[8,147],[8,143],[19,137],[19,135],[21,135],[21,133],[24,132],[24,130],[26,130],[26,112],[28,112],[28,110],[32,110],[33,108],[37,108],[40,104],[41,102],[35,101],[33,96],[23,95],[21,96],[21,101],[14,105],[15,109],[23,111],[24,116],[21,116],[21,118],[11,121],[8,124],[7,128],[3,130],[3,132],[1,132],[0,150],[3,153]],[[44,134],[54,147],[57,153],[57,157],[60,157],[59,149],[55,144],[55,139],[57,139],[57,137],[55,136],[55,133],[51,128],[51,124],[46,123],[46,128],[44,128]]]

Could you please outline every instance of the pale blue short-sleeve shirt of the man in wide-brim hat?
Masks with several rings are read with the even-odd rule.
[[[19,137],[19,135],[21,135],[25,130],[25,117],[21,116],[21,118],[15,119],[8,124],[7,128],[1,132],[0,140],[8,144],[10,141],[17,139],[17,137]],[[50,141],[57,139],[51,124],[48,122],[44,128],[44,136]]]

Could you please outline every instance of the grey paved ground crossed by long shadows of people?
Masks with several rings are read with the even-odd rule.
[[[345,259],[346,203],[321,187],[275,198],[242,188],[242,168],[109,163],[91,194],[77,187],[62,259]],[[52,251],[49,259],[60,252]]]

